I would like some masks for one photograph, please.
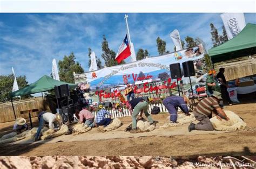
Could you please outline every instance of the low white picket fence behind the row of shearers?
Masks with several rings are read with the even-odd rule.
[[[147,107],[147,112],[151,114],[151,110],[153,109],[154,106],[157,106],[160,108],[160,112],[168,112],[168,110],[165,108],[163,103],[157,103],[157,104],[149,104],[149,107]],[[108,110],[110,114],[112,115],[113,118],[118,118],[118,117],[126,117],[126,116],[131,116],[130,111],[128,109],[123,108],[122,112],[118,110]],[[92,111],[93,116],[97,116],[97,111]],[[106,117],[109,117],[106,115]]]

